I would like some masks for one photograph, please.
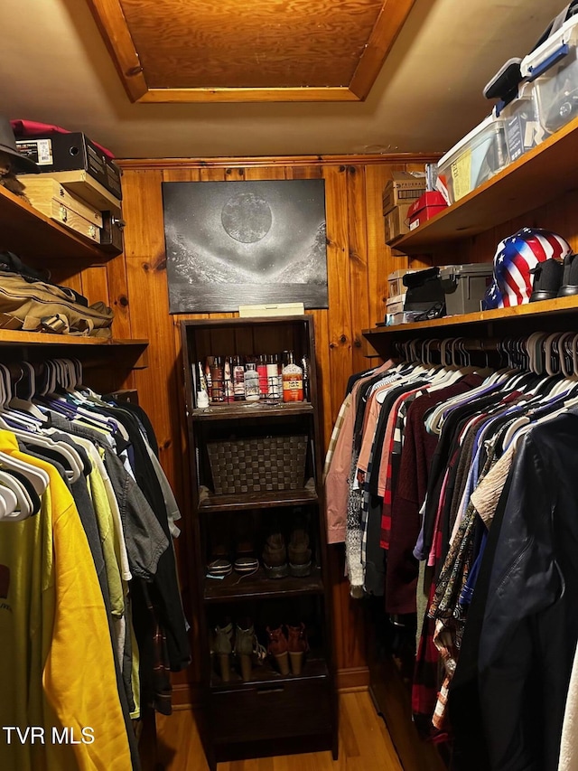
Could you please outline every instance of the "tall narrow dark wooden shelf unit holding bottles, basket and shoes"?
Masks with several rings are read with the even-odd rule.
[[[199,629],[201,692],[207,717],[201,739],[210,769],[215,771],[220,761],[279,755],[306,748],[331,749],[333,757],[337,757],[331,585],[322,505],[322,447],[312,316],[194,319],[183,321],[181,331],[192,480],[191,531],[200,608],[195,626]],[[307,400],[239,401],[203,409],[197,407],[198,364],[206,357],[247,357],[283,351],[294,351],[297,361],[303,355],[308,358],[310,394]],[[284,439],[300,439],[303,450],[303,437],[306,437],[303,476],[296,487],[292,481],[271,485],[287,489],[258,490],[261,463],[264,480],[267,473],[273,472],[267,451],[262,460],[258,457],[258,482],[249,485],[250,492],[232,492],[232,483],[229,489],[227,484],[222,485],[222,480],[213,478],[216,472],[211,465],[211,443],[225,442],[230,446],[238,439],[255,437],[259,441],[265,439],[266,447],[287,447],[287,452],[291,444],[285,445]],[[248,458],[230,456],[227,462],[230,468],[238,468],[245,460]],[[292,462],[295,465],[294,457],[288,457],[288,467]],[[279,466],[285,482],[283,464],[275,465],[275,474],[279,473]],[[275,544],[282,542],[282,553],[288,552],[298,521],[306,523],[308,548],[312,552],[311,569],[308,575],[295,575],[299,569],[290,567],[290,560],[284,558],[288,575],[273,578],[271,568],[266,569],[263,553],[273,553],[272,538]],[[237,554],[247,555],[247,550],[235,542],[242,522],[251,523],[251,554],[258,559],[258,569],[254,574],[233,569],[225,578],[209,578],[208,565],[216,556],[224,555],[225,562],[234,566]],[[223,543],[228,544],[225,551]],[[269,562],[272,564],[277,563]],[[298,667],[294,669],[292,663],[290,672],[294,673],[284,674],[283,667],[272,655],[277,651],[272,649],[265,663],[258,663],[258,656],[253,655],[250,674],[247,677],[245,671],[243,679],[243,657],[236,657],[234,653],[240,619],[244,619],[243,628],[247,628],[247,619],[250,619],[256,642],[265,646],[269,642],[269,627],[283,628],[288,638],[289,625],[303,623],[311,650],[304,653],[301,672]],[[215,642],[216,630],[228,628],[229,621],[233,628],[233,653],[225,654],[228,663],[221,670],[223,652],[215,650],[219,648]],[[285,746],[284,741],[289,744]]]

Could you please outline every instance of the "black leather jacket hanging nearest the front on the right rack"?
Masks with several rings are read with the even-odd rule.
[[[480,635],[489,771],[556,771],[578,638],[578,414],[533,428],[509,483]]]

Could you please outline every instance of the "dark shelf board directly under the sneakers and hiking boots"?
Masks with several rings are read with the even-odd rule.
[[[266,578],[262,568],[254,576],[243,578],[233,571],[226,578],[206,578],[203,591],[205,602],[228,602],[230,600],[266,599],[267,597],[295,597],[323,593],[322,571],[313,568],[310,576],[304,578]]]

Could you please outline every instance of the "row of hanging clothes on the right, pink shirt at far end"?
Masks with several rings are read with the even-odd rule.
[[[509,745],[500,745],[501,734],[522,752],[531,745],[531,757],[542,758],[536,767],[555,769],[566,726],[561,698],[573,664],[569,646],[578,638],[573,614],[564,607],[558,618],[555,610],[578,601],[572,554],[578,521],[578,456],[573,451],[578,444],[578,334],[416,339],[392,342],[391,350],[391,360],[350,379],[328,453],[328,535],[331,542],[345,541],[351,595],[371,605],[377,601],[381,625],[375,616],[369,624],[374,623],[378,648],[383,652],[395,637],[390,653],[402,667],[400,651],[407,660],[411,657],[403,673],[412,680],[414,726],[422,737],[440,743],[452,730],[453,747],[461,752],[456,771],[513,767],[500,765],[509,753]],[[494,366],[489,368],[489,362]],[[502,545],[500,532],[506,533]],[[562,569],[553,569],[557,559]],[[517,569],[518,561],[524,570]],[[505,602],[501,597],[509,586],[517,595],[510,590]],[[543,603],[548,613],[540,616],[530,608],[525,616],[527,599],[535,597],[538,610]],[[552,710],[549,701],[536,704],[532,712],[529,702],[522,706],[515,670],[519,659],[525,667],[520,682],[529,688],[536,670],[525,652],[547,656],[540,648],[545,637],[533,637],[528,630],[549,614],[557,617],[560,640],[548,675],[556,688]],[[513,624],[519,618],[517,634],[526,645],[519,655],[507,635],[510,615]],[[474,631],[468,638],[469,628]],[[503,635],[500,644],[495,629]],[[484,691],[479,711],[491,726],[486,736],[481,712],[476,723],[469,710],[479,661]],[[379,653],[374,663],[370,660],[371,688],[387,719],[396,719],[387,703],[389,691],[379,692],[384,666]],[[508,688],[502,668],[512,679]],[[438,679],[441,671],[443,679]],[[453,672],[459,673],[455,679]],[[385,676],[390,682],[391,672]],[[578,682],[578,657],[573,678]],[[543,674],[537,681],[536,689],[546,691]],[[475,696],[473,704],[476,708]],[[508,705],[502,710],[507,714],[500,712],[502,704]],[[547,730],[534,725],[535,713]],[[572,748],[572,741],[566,746]],[[439,758],[421,766],[421,758],[415,761],[415,767],[433,768]]]

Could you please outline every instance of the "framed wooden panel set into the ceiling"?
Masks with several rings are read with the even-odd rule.
[[[132,101],[361,101],[415,0],[88,0]]]

